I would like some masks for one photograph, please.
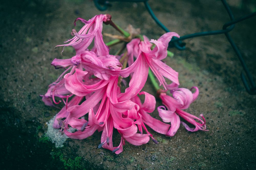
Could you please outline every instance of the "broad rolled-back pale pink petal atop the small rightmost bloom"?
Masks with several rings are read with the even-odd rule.
[[[173,98],[180,103],[179,109],[187,109],[189,105],[193,102],[193,95],[189,89],[177,88],[171,91],[173,93]]]

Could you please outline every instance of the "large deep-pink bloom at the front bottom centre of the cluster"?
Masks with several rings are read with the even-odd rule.
[[[70,138],[84,139],[91,136],[97,129],[98,131],[103,130],[99,148],[103,147],[105,149],[109,149],[116,154],[123,151],[125,140],[133,145],[142,145],[147,143],[151,137],[153,141],[157,143],[157,141],[146,129],[145,124],[143,123],[142,115],[140,114],[141,111],[154,111],[154,96],[146,92],[141,92],[140,95],[145,95],[145,102],[143,104],[141,104],[137,96],[133,99],[134,101],[137,100],[140,106],[132,100],[119,102],[118,94],[120,94],[120,87],[117,85],[117,83],[118,77],[111,77],[108,85],[96,90],[95,93],[81,105],[69,107],[67,111],[70,112],[71,118],[66,122],[64,133]],[[97,107],[98,110],[94,114],[94,107],[97,105],[97,103],[99,103],[99,101],[101,101],[101,103],[99,107]],[[89,117],[88,121],[80,119],[80,117],[87,113]],[[146,116],[151,117],[150,115]],[[154,125],[160,121],[155,120],[155,122],[156,123],[153,123]],[[161,129],[162,124],[164,123],[161,122],[159,125],[157,125],[159,128],[158,131],[163,131],[163,129]],[[68,126],[76,128],[78,131],[71,133],[68,131]],[[166,132],[168,131],[169,127],[170,125],[165,124]],[[120,144],[116,147],[113,147],[112,143],[113,128],[116,128],[121,135]],[[143,134],[143,128],[146,134]],[[138,129],[139,133],[137,133]]]

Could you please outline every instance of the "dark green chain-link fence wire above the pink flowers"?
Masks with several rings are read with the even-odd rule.
[[[109,4],[110,1],[143,2],[147,11],[148,11],[148,13],[151,15],[151,17],[157,23],[157,25],[159,27],[161,27],[165,32],[170,32],[170,30],[167,29],[165,27],[165,25],[157,19],[154,12],[152,11],[150,5],[147,2],[148,0],[93,0],[93,1],[94,1],[95,6],[101,11],[106,10],[108,8],[108,6],[111,6]],[[237,54],[237,57],[238,57],[239,61],[241,62],[243,70],[244,70],[244,72],[247,76],[247,79],[249,80],[249,83],[248,83],[247,80],[246,80],[246,76],[244,75],[243,72],[241,72],[241,79],[242,79],[242,82],[243,82],[243,85],[244,85],[246,91],[250,95],[256,95],[256,86],[255,86],[255,83],[253,81],[252,75],[251,75],[251,73],[250,73],[250,71],[249,71],[249,69],[248,69],[248,67],[247,67],[239,49],[238,49],[238,47],[236,46],[236,44],[234,43],[234,41],[232,40],[232,38],[229,35],[229,32],[234,29],[236,23],[256,16],[256,12],[253,12],[253,13],[247,15],[247,16],[243,16],[243,17],[238,18],[238,19],[234,19],[233,13],[232,13],[231,9],[229,8],[229,5],[227,4],[226,0],[221,0],[221,2],[224,5],[224,7],[225,7],[225,9],[228,12],[228,15],[230,17],[230,21],[223,25],[222,30],[197,32],[197,33],[181,36],[180,38],[173,37],[172,40],[169,43],[169,47],[174,46],[179,50],[184,50],[186,43],[183,43],[182,40],[185,40],[185,39],[188,39],[188,38],[199,37],[199,36],[206,36],[206,35],[225,34],[225,36],[227,37],[230,45],[232,46],[233,50]]]

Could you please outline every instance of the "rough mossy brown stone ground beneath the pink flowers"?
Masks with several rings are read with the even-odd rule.
[[[232,1],[230,1],[232,2]],[[252,1],[253,2],[253,1]],[[229,21],[220,1],[149,1],[157,17],[170,30],[185,35],[221,29]],[[255,4],[232,2],[235,17],[248,14]],[[132,24],[142,34],[157,39],[157,27],[142,3],[113,2],[104,13],[125,28]],[[249,8],[248,8],[249,7]],[[188,112],[204,113],[209,132],[190,133],[180,126],[167,138],[151,133],[159,141],[132,146],[115,155],[98,149],[101,133],[84,140],[68,139],[55,148],[44,134],[58,109],[47,107],[39,94],[61,73],[50,65],[62,58],[62,44],[70,38],[77,17],[89,19],[101,12],[92,1],[25,0],[0,5],[1,169],[255,169],[256,96],[246,93],[240,79],[242,67],[224,35],[185,40],[187,48],[174,52],[165,62],[179,72],[182,87],[196,85],[200,94]],[[244,56],[254,80],[256,18],[236,25],[230,33]],[[118,34],[104,25],[103,32]],[[106,37],[105,42],[110,41]],[[112,49],[113,51],[114,49]],[[67,48],[64,54],[74,51]],[[64,58],[64,57],[63,57]],[[154,94],[150,82],[144,90]],[[157,106],[161,101],[157,101]],[[157,112],[153,113],[157,117]],[[119,140],[117,133],[116,140]]]

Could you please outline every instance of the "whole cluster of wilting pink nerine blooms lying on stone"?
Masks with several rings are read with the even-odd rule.
[[[126,45],[127,53],[123,56],[126,62],[123,62],[123,57],[118,60],[120,56],[110,55],[108,46],[103,42],[102,25],[110,19],[109,15],[97,15],[88,21],[77,18],[74,25],[77,20],[85,25],[79,32],[72,30],[74,37],[67,44],[59,45],[72,46],[76,55],[70,59],[54,59],[51,63],[56,69],[65,69],[49,85],[47,93],[41,95],[48,106],[55,106],[61,101],[65,104],[55,116],[53,127],[61,128],[68,137],[74,139],[84,139],[96,130],[102,131],[99,148],[109,149],[116,154],[123,151],[125,141],[138,146],[147,143],[151,138],[157,143],[145,125],[158,133],[173,136],[180,126],[180,116],[195,126],[190,128],[182,122],[187,130],[206,130],[203,115],[200,115],[203,119],[201,120],[182,110],[187,109],[197,98],[198,88],[192,87],[196,89],[195,93],[178,88],[178,73],[161,61],[167,56],[171,38],[179,35],[168,32],[158,40],[149,41],[146,36],[143,36],[143,41],[139,38],[132,39]],[[88,49],[92,42],[93,47]],[[153,49],[152,44],[155,44]],[[158,107],[159,116],[170,124],[149,114],[155,110],[155,97],[141,91],[149,69],[164,88],[160,98],[168,110],[164,106]],[[128,76],[129,87],[122,93],[122,78]],[[165,78],[172,83],[167,84]],[[166,95],[167,90],[173,94],[172,97]],[[139,95],[145,96],[144,102],[141,102]],[[56,101],[56,98],[59,100]],[[70,127],[76,129],[75,132],[71,132]],[[113,146],[112,142],[114,129],[120,134],[118,146]]]

